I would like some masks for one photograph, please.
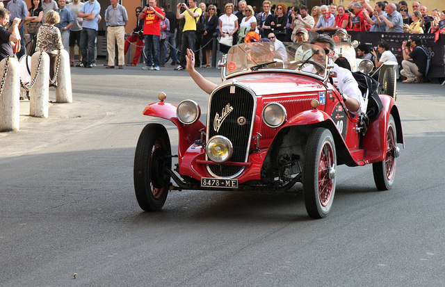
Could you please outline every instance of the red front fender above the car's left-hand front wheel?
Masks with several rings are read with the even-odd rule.
[[[180,158],[184,156],[184,153],[195,143],[195,140],[201,138],[201,129],[204,129],[205,126],[197,120],[193,124],[182,124],[179,122],[178,117],[176,115],[177,106],[169,103],[165,103],[163,101],[149,104],[145,107],[143,114],[149,115],[151,117],[161,117],[166,120],[170,120],[177,126],[179,133],[179,142],[178,142],[178,155],[179,161]]]

